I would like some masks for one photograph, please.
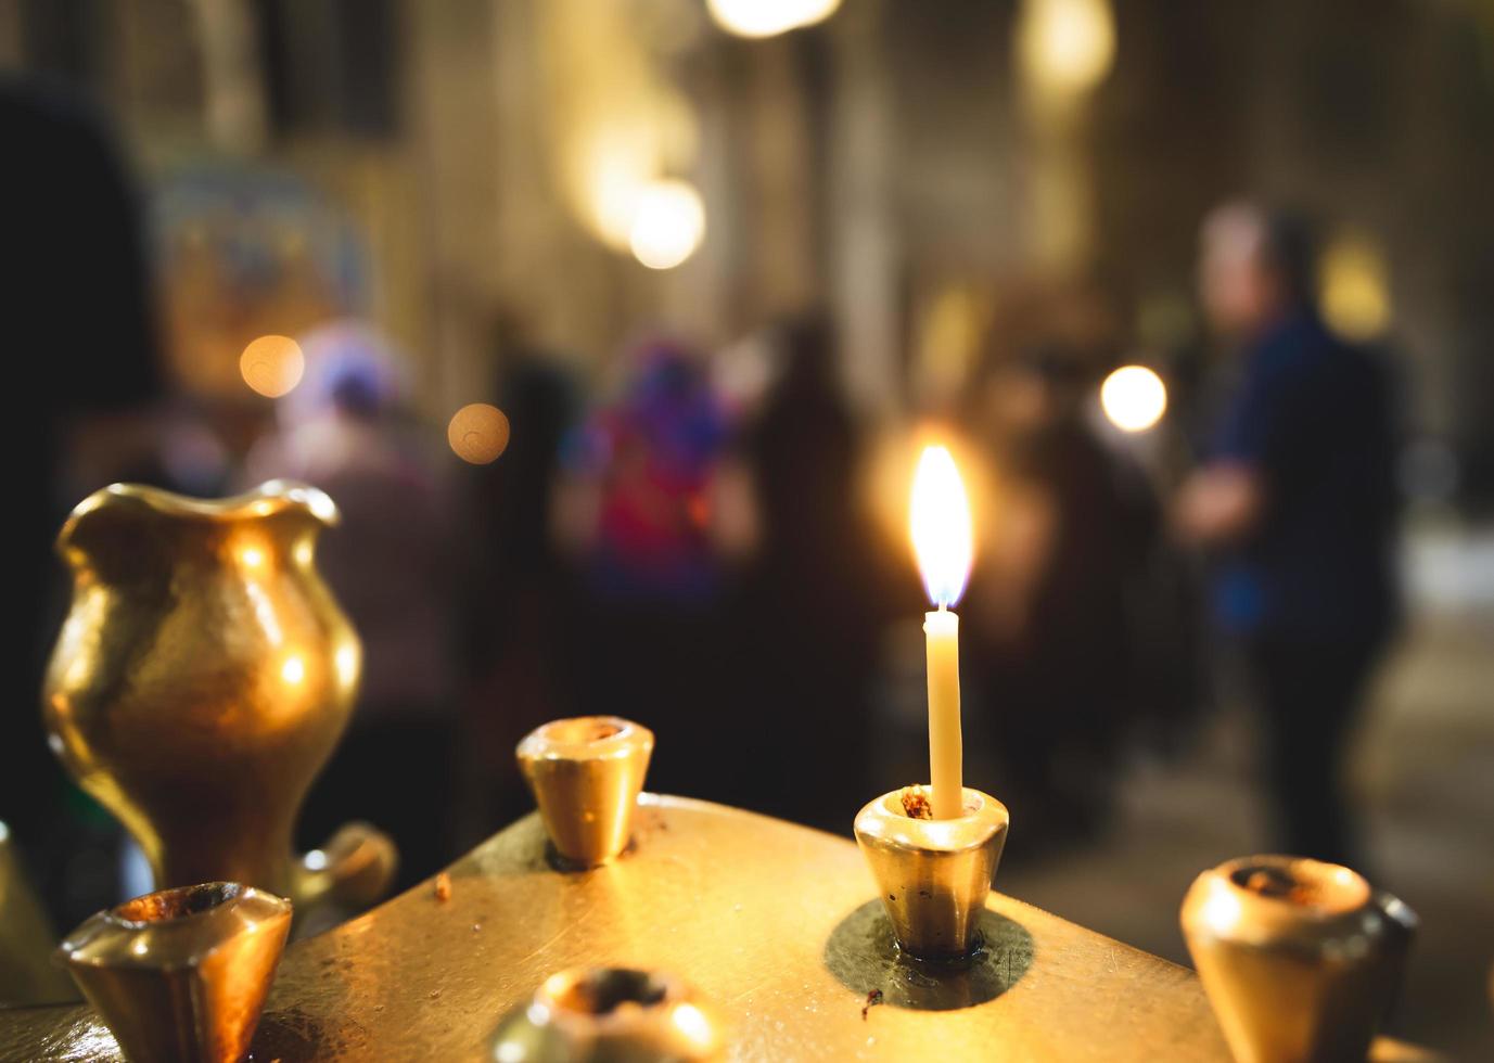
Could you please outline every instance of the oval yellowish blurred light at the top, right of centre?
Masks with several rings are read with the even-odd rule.
[[[1107,0],[1023,0],[1017,49],[1034,87],[1062,94],[1094,88],[1116,54]]]

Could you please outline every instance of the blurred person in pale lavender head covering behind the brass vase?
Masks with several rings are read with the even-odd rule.
[[[456,664],[451,615],[462,537],[441,455],[408,417],[403,364],[372,328],[324,325],[302,339],[306,370],[279,400],[278,428],[247,458],[324,490],[342,521],[317,567],[363,640],[357,706],[300,818],[320,845],[368,820],[399,845],[399,885],[453,858]]]

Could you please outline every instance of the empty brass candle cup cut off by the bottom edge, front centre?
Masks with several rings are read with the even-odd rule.
[[[704,1063],[726,1039],[674,975],[578,967],[550,975],[493,1038],[495,1063]]]

